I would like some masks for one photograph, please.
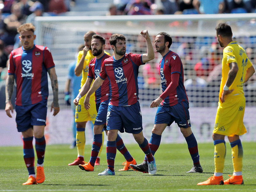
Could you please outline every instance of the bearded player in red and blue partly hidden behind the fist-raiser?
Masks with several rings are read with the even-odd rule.
[[[92,80],[96,79],[100,74],[100,68],[103,61],[110,56],[104,53],[105,48],[105,38],[100,35],[92,36],[92,55],[96,56],[90,61],[88,68],[88,77],[86,79],[85,84],[81,88],[79,94],[76,99],[74,99],[74,104],[78,105],[78,102],[82,96],[84,96],[90,86],[92,84]],[[108,111],[108,103],[110,99],[110,85],[108,79],[103,82],[99,89],[95,91],[95,101],[96,108],[98,111],[97,117],[95,119],[94,127],[93,127],[93,143],[92,143],[92,153],[91,159],[85,164],[80,164],[79,168],[85,171],[93,171],[96,157],[98,156],[101,143],[102,143],[102,130],[105,129],[106,119],[107,119],[107,111]],[[105,129],[106,130],[106,129]],[[107,133],[107,132],[106,132]],[[124,162],[124,168],[119,169],[118,171],[127,171],[130,169],[130,164],[136,164],[135,159],[130,155],[127,148],[124,146],[124,142],[122,138],[117,134],[116,138],[116,147],[117,149],[124,155],[126,161]]]

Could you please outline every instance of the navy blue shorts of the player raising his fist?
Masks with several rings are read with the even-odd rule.
[[[107,130],[118,129],[121,133],[138,134],[142,131],[140,103],[130,106],[108,106]]]

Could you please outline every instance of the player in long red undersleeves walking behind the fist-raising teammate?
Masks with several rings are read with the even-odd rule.
[[[151,108],[158,108],[149,147],[154,155],[160,145],[161,135],[165,127],[170,126],[175,121],[188,143],[188,151],[193,160],[194,165],[188,172],[203,172],[199,162],[196,138],[190,128],[188,96],[183,85],[183,66],[179,55],[169,50],[171,44],[172,37],[168,33],[160,32],[157,34],[155,39],[156,52],[159,52],[163,57],[159,63],[163,93],[150,104]],[[130,166],[134,170],[147,172],[148,164],[146,161],[147,158],[145,157],[143,163]]]

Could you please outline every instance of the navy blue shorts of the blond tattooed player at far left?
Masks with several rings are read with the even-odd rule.
[[[44,99],[33,105],[15,106],[18,132],[28,130],[33,125],[46,125],[47,100]]]

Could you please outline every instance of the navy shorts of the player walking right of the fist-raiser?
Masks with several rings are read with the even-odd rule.
[[[179,127],[191,127],[188,108],[187,101],[182,101],[174,106],[159,105],[156,111],[155,124],[166,123],[170,126],[175,121]]]

